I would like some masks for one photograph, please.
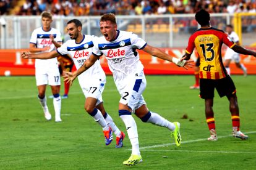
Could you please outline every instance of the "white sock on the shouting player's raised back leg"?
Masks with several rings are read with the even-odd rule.
[[[174,131],[175,125],[172,122],[169,122],[167,119],[164,119],[162,116],[158,115],[157,113],[151,112],[151,116],[148,119],[148,123],[156,124],[161,127],[166,127],[170,131]]]

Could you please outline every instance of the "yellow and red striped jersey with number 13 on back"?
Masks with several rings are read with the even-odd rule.
[[[200,28],[190,36],[186,52],[192,54],[194,48],[197,49],[200,57],[200,78],[221,79],[228,75],[221,57],[223,43],[229,48],[235,45],[228,34],[212,27]]]

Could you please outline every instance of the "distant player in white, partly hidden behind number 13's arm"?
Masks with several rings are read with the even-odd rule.
[[[233,31],[232,25],[226,25],[226,32],[228,33],[228,36],[229,36],[229,38],[232,39],[232,41],[236,42],[237,45],[240,44],[239,37]],[[230,64],[231,60],[234,60],[234,62],[236,63],[236,67],[241,68],[242,71],[244,72],[244,76],[247,76],[247,68],[245,68],[244,65],[242,63],[240,63],[239,53],[234,52],[233,49],[228,48],[226,51],[226,54],[224,55],[224,59],[225,59],[225,67],[226,67],[226,70],[229,75],[231,73],[229,64]]]

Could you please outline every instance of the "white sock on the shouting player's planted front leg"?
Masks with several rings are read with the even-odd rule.
[[[126,131],[132,144],[132,155],[140,155],[137,125],[132,115],[121,115],[120,118],[126,125]]]

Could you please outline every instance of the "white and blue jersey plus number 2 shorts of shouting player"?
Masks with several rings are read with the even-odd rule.
[[[106,41],[102,36],[93,47],[94,55],[105,55],[116,87],[122,96],[120,102],[127,104],[132,110],[145,104],[142,92],[147,83],[139,53],[136,51],[145,46],[147,42],[137,34],[117,30],[117,38],[114,41]]]

